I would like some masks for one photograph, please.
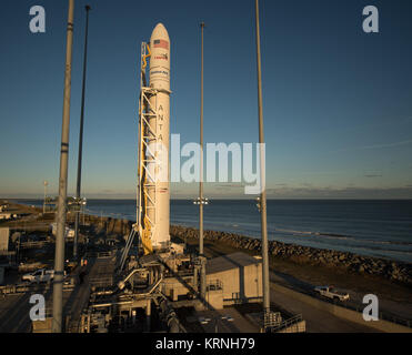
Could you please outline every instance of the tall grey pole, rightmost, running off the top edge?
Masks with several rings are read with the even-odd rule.
[[[267,187],[265,187],[265,160],[264,160],[264,135],[263,135],[263,103],[262,103],[262,68],[260,55],[260,28],[259,28],[259,0],[255,0],[257,22],[257,62],[258,62],[258,106],[259,106],[259,156],[260,156],[260,214],[262,229],[262,266],[263,266],[263,316],[270,313],[270,288],[269,288],[269,255],[268,255],[268,225],[267,225]]]

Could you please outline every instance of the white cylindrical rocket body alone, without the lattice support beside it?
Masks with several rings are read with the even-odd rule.
[[[150,52],[149,83],[150,88],[157,90],[157,94],[150,98],[150,106],[157,115],[149,118],[148,121],[155,132],[157,143],[149,143],[155,160],[155,163],[148,164],[150,172],[148,180],[152,183],[148,186],[148,191],[150,199],[154,202],[154,209],[148,209],[147,213],[154,222],[154,229],[151,230],[150,235],[152,247],[163,250],[170,244],[170,39],[162,23],[159,23],[152,32]]]

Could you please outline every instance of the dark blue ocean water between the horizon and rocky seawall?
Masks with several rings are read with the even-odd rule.
[[[87,213],[135,221],[135,201],[88,200]],[[199,206],[172,200],[170,217],[171,224],[198,227]],[[204,206],[204,229],[260,237],[255,201],[210,201]],[[412,200],[268,200],[268,236],[412,263]]]

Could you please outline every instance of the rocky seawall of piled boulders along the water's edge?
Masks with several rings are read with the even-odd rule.
[[[16,202],[10,202],[10,204],[22,207],[26,211],[32,211],[34,213],[40,212],[41,214],[40,207]],[[129,234],[133,224],[132,221],[125,219],[98,216],[93,214],[84,214],[84,221],[93,225],[100,225],[100,227],[107,230],[108,233],[121,235]],[[67,222],[72,223],[70,214],[68,215]],[[171,237],[178,237],[182,241],[185,237],[198,240],[199,230],[195,227],[171,224],[170,235]],[[252,253],[260,253],[261,251],[260,239],[237,233],[204,230],[204,240],[222,243]],[[268,250],[271,258],[288,260],[300,265],[321,266],[359,275],[380,276],[392,282],[412,286],[412,263],[278,241],[269,241]]]

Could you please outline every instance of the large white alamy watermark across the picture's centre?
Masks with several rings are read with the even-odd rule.
[[[264,190],[264,143],[199,143],[181,145],[180,134],[171,134],[169,152],[162,142],[145,145],[147,179],[150,182],[234,182],[244,184],[245,194]],[[203,164],[202,164],[203,161]],[[201,174],[201,166],[203,172]]]

